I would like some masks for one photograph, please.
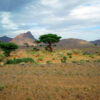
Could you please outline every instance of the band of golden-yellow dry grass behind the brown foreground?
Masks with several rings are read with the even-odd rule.
[[[85,51],[89,51],[89,50],[85,50]],[[69,58],[69,56],[67,55],[68,52],[72,52],[72,58]],[[83,54],[83,51],[79,49],[75,49],[75,50],[59,50],[58,49],[58,50],[54,50],[53,53],[50,53],[45,50],[40,50],[36,52],[36,51],[32,51],[31,49],[20,49],[17,52],[16,51],[13,52],[11,56],[9,57],[9,59],[31,57],[39,64],[45,64],[47,61],[50,61],[51,63],[61,63],[61,59],[63,58],[63,56],[67,57],[67,62],[80,61],[80,60],[93,61],[93,60],[100,59],[100,55],[98,53],[94,53],[93,57],[90,57],[89,55],[83,56],[82,54]]]

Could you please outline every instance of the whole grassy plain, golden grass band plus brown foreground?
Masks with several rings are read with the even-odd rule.
[[[2,65],[0,100],[100,100],[100,49],[89,50],[13,52],[9,59],[31,57],[37,64]],[[89,54],[83,55],[86,51]],[[63,56],[66,63],[61,62]]]

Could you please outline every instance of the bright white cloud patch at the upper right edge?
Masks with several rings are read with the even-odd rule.
[[[71,11],[70,16],[77,19],[100,19],[100,5],[97,6],[80,6]]]

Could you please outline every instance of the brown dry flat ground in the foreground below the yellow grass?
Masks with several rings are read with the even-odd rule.
[[[0,67],[0,100],[100,100],[100,63]]]

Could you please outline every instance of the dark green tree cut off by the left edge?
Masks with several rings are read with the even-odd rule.
[[[0,42],[0,48],[4,51],[4,55],[8,57],[12,51],[18,49],[18,46],[14,43]]]

